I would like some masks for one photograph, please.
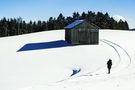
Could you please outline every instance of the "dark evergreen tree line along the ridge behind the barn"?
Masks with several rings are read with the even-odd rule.
[[[33,32],[48,31],[63,29],[71,22],[85,19],[90,23],[94,23],[101,29],[121,29],[129,30],[127,21],[115,21],[108,13],[88,11],[83,13],[74,12],[72,16],[65,17],[62,13],[58,17],[50,17],[47,21],[26,21],[19,18],[6,19],[5,17],[0,20],[0,37],[21,35]]]

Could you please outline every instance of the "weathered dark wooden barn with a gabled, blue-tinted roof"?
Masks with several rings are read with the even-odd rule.
[[[99,27],[86,20],[76,20],[65,27],[65,40],[72,45],[98,44]]]

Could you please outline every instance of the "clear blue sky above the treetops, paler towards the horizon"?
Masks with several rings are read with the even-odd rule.
[[[135,0],[0,0],[0,19],[22,17],[25,21],[46,21],[60,13],[108,12],[112,17],[124,17],[130,28],[135,28]]]

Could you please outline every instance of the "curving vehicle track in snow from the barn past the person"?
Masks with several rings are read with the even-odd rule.
[[[128,52],[123,48],[121,47],[120,45],[114,43],[114,42],[111,42],[109,40],[106,40],[106,39],[101,39],[100,40],[101,42],[109,45],[111,48],[113,48],[115,50],[115,52],[117,53],[118,57],[119,57],[119,61],[118,61],[118,65],[113,67],[113,69],[117,70],[116,73],[118,73],[119,71],[121,70],[124,70],[125,68],[129,67],[130,64],[131,64],[131,57],[130,55],[128,54]],[[127,56],[127,59],[125,61],[125,57],[123,57],[123,53],[126,54]],[[128,63],[127,63],[128,62]],[[122,64],[124,63],[124,66]],[[96,69],[95,72],[88,72],[86,74],[83,74],[83,75],[79,75],[77,77],[69,77],[67,79],[63,79],[63,80],[60,80],[60,81],[57,81],[56,83],[60,83],[60,82],[64,82],[64,81],[67,81],[67,80],[70,80],[70,79],[74,79],[74,78],[78,78],[78,77],[83,77],[83,76],[95,76],[95,75],[105,75],[106,73],[104,72],[104,69],[105,69],[105,65]],[[119,70],[118,70],[119,69]],[[114,72],[115,70],[112,70],[111,72]],[[98,73],[96,73],[98,72]]]

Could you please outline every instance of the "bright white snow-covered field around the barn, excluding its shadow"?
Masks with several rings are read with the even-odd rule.
[[[133,31],[100,30],[99,45],[20,52],[28,43],[64,40],[64,30],[0,38],[0,90],[135,90],[134,38]]]

